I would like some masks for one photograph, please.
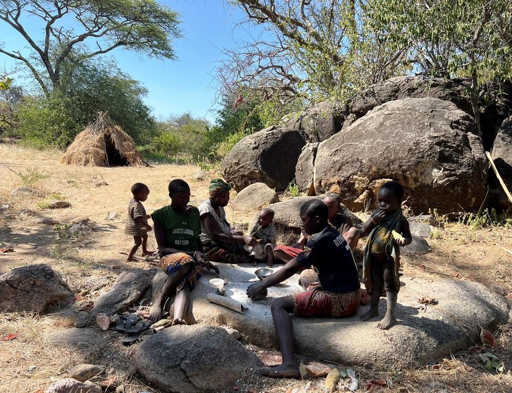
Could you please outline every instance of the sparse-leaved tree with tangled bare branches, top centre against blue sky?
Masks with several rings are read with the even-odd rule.
[[[223,91],[253,90],[289,103],[297,97],[347,99],[362,86],[403,74],[404,50],[390,50],[370,29],[367,0],[232,0],[245,24],[264,38],[224,50],[218,69]],[[267,36],[274,37],[269,41]]]

